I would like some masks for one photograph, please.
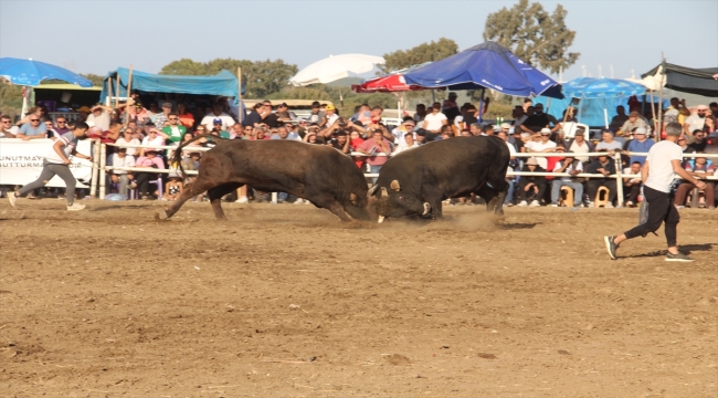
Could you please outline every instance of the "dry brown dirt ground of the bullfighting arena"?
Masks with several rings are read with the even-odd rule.
[[[2,397],[716,397],[718,212],[0,203]]]

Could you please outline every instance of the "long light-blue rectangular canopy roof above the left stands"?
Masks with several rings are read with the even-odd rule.
[[[117,78],[119,78],[119,93],[115,93]],[[105,76],[101,98],[127,97],[128,82],[129,70],[126,67],[118,67],[117,71],[108,73]],[[235,105],[240,97],[237,78],[230,71],[221,71],[214,76],[159,75],[133,71],[131,90],[148,93],[222,95],[234,97]]]

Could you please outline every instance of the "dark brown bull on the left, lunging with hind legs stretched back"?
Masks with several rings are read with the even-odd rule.
[[[193,140],[207,135],[197,136]],[[219,139],[202,156],[197,179],[159,218],[172,217],[190,198],[208,192],[214,216],[224,219],[222,197],[249,185],[270,192],[287,192],[328,209],[342,221],[369,220],[367,180],[347,156],[328,146],[291,140]],[[172,161],[181,165],[183,143]]]

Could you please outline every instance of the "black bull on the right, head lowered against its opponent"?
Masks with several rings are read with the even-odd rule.
[[[384,217],[442,216],[442,200],[476,193],[503,213],[509,150],[498,137],[455,137],[405,150],[387,161],[369,190]]]

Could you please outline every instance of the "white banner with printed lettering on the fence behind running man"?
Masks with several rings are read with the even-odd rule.
[[[52,139],[0,138],[0,185],[28,185],[40,177],[42,161],[52,150]],[[81,140],[78,154],[92,156],[92,142]],[[71,156],[70,169],[77,180],[77,188],[89,188],[92,161]],[[53,177],[47,187],[64,187],[65,182]]]

